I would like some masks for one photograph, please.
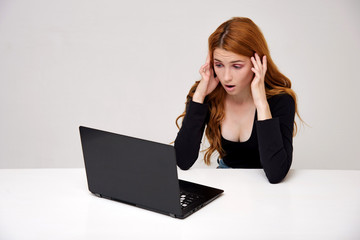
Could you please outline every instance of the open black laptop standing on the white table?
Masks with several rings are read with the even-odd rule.
[[[171,145],[79,130],[89,191],[98,197],[183,219],[224,192],[179,180]]]

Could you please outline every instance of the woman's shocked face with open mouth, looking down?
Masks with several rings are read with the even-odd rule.
[[[229,95],[236,96],[249,89],[254,73],[249,57],[226,51],[214,50],[214,70]]]

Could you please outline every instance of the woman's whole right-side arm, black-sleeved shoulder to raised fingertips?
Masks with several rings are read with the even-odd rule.
[[[288,173],[292,162],[295,102],[287,94],[274,96],[268,101],[265,91],[266,56],[261,61],[255,53],[251,62],[254,72],[251,93],[258,112],[256,127],[260,162],[269,182],[279,183]]]

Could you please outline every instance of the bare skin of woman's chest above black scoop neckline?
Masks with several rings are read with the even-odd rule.
[[[221,123],[223,138],[233,142],[246,142],[251,137],[256,108],[254,105],[225,104],[225,117]]]

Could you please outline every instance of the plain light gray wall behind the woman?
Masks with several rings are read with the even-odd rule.
[[[349,0],[1,0],[0,168],[83,166],[79,125],[171,142],[208,36],[246,16],[309,125],[293,168],[360,169],[359,12]]]

